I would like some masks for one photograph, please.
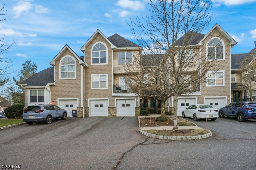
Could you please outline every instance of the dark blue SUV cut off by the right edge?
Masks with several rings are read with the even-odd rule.
[[[219,109],[219,117],[236,117],[239,122],[256,119],[256,102],[234,102]]]

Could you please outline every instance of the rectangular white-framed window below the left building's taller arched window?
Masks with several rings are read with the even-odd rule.
[[[108,74],[92,74],[92,89],[108,89]]]

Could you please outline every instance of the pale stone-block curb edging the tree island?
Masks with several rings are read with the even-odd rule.
[[[162,135],[155,135],[155,134],[152,134],[152,133],[141,131],[140,130],[140,117],[138,117],[138,119],[139,119],[139,131],[140,131],[140,133],[142,135],[145,135],[145,136],[148,136],[148,137],[151,137],[151,138],[167,139],[167,140],[194,140],[194,139],[205,139],[205,138],[208,138],[208,137],[212,136],[212,131],[210,131],[209,129],[207,129],[207,130],[210,131],[210,133],[207,133],[207,134],[204,134],[204,135],[197,135],[197,136],[162,136]],[[186,120],[186,121],[188,121],[188,120]],[[192,124],[194,124],[194,123],[192,123]]]

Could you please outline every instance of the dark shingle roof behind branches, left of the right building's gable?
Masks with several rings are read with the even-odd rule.
[[[204,36],[205,36],[205,34],[188,31],[176,41],[176,46],[182,46],[184,41],[185,42],[188,41],[188,42],[186,42],[187,43],[186,46],[196,46],[199,43],[199,41],[202,38],[204,38]],[[188,39],[188,40],[186,40],[186,39]]]

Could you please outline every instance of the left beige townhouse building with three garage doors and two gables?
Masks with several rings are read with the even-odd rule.
[[[141,47],[114,34],[97,30],[81,47],[78,56],[68,45],[52,59],[52,67],[33,74],[20,85],[25,89],[25,107],[52,103],[78,117],[138,116],[139,97],[125,85],[125,63],[139,57]]]

